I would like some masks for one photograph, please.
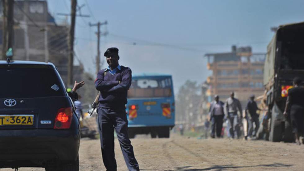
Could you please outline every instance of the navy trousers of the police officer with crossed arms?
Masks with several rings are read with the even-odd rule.
[[[107,171],[116,171],[114,154],[114,129],[123,152],[124,160],[130,171],[138,171],[139,166],[134,156],[133,146],[128,137],[128,120],[125,110],[112,110],[98,107],[98,125],[102,160]]]

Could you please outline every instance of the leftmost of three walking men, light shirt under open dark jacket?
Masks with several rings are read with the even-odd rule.
[[[214,101],[211,103],[209,112],[211,119],[211,137],[215,138],[215,131],[217,137],[221,137],[224,119],[224,102],[219,100],[220,97],[215,95]]]

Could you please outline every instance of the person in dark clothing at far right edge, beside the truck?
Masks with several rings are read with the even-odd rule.
[[[286,106],[283,113],[287,116],[287,113],[290,110],[291,125],[298,145],[301,145],[299,136],[304,133],[304,88],[299,87],[301,82],[299,77],[293,79],[294,88],[291,88],[288,91]]]

